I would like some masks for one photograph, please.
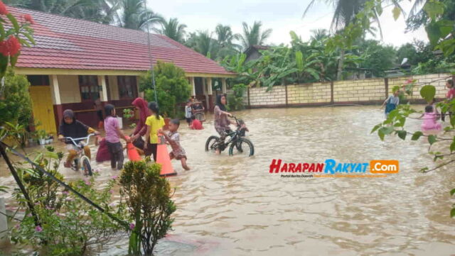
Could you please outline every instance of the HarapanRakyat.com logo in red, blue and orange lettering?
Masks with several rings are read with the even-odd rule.
[[[280,173],[284,178],[380,178],[400,172],[398,160],[371,160],[370,162],[284,162],[274,159],[269,173]]]

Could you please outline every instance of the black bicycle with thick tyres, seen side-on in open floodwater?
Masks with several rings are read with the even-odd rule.
[[[255,146],[250,140],[244,138],[245,133],[248,131],[248,128],[245,126],[245,122],[243,122],[242,119],[237,119],[235,116],[232,116],[232,118],[234,118],[235,123],[237,123],[237,129],[228,133],[228,136],[230,137],[228,142],[221,142],[220,137],[212,135],[205,142],[205,151],[220,150],[221,152],[225,150],[225,148],[228,148],[228,145],[230,145],[229,155],[234,155],[234,148],[237,149],[237,152],[240,154],[247,152],[249,157],[255,155]],[[248,148],[244,148],[244,145]]]

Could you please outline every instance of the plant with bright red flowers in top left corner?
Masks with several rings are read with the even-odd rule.
[[[6,73],[6,68],[16,65],[21,54],[21,46],[35,44],[33,40],[33,25],[35,22],[30,14],[21,16],[20,23],[8,11],[3,1],[0,1],[0,79]]]

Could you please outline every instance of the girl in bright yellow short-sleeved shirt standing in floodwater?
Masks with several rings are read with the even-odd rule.
[[[149,116],[145,124],[147,126],[146,139],[144,144],[144,152],[146,156],[154,155],[156,162],[156,146],[158,145],[158,130],[163,129],[164,118],[159,115],[159,108],[156,102],[149,103],[151,116]]]

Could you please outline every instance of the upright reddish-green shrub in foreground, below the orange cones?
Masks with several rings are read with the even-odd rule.
[[[151,162],[127,162],[120,177],[120,194],[134,221],[129,237],[129,253],[153,255],[159,239],[171,230],[171,214],[176,206],[171,200],[171,187],[160,177],[161,165]],[[138,235],[140,234],[140,236]]]

